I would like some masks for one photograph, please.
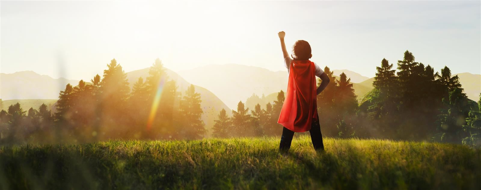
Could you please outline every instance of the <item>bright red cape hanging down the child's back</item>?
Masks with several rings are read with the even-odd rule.
[[[280,111],[278,124],[294,132],[311,129],[317,119],[316,66],[314,62],[291,61],[286,99]]]

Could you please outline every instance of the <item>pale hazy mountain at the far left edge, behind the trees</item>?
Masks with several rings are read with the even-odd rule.
[[[52,78],[33,71],[20,71],[12,74],[0,73],[0,99],[58,99],[60,90],[78,80]]]

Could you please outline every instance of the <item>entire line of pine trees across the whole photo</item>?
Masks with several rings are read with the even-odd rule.
[[[434,72],[429,64],[415,62],[409,51],[396,69],[393,66],[383,59],[376,67],[374,89],[361,98],[354,94],[348,76],[333,76],[326,66],[331,82],[317,96],[323,135],[481,144],[481,99],[469,100],[447,66]],[[280,135],[277,120],[284,99],[281,90],[265,109],[257,104],[249,110],[240,101],[232,114],[221,110],[213,137]],[[24,111],[19,103],[0,111],[0,142],[200,139],[206,135],[200,103],[193,85],[178,91],[159,59],[132,90],[114,59],[103,76],[81,80],[75,87],[67,84],[54,105],[55,113],[45,104]]]

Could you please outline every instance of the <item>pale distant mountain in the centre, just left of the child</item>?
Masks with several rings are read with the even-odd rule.
[[[211,90],[231,109],[254,94],[271,94],[287,87],[287,71],[241,64],[215,64],[177,72],[194,85]]]

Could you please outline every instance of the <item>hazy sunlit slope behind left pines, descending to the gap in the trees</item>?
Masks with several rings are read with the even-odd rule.
[[[167,75],[169,76],[169,79],[175,80],[177,82],[178,92],[185,94],[185,91],[190,86],[190,83],[181,76],[177,75],[177,73],[171,71],[170,69],[165,69]],[[142,77],[145,80],[147,76],[149,76],[149,68],[127,72],[127,80],[129,82],[130,88],[134,86],[134,83],[139,79],[139,77]],[[232,111],[226,104],[224,104],[224,102],[217,98],[217,96],[208,89],[196,85],[194,86],[195,91],[201,94],[201,107],[204,111],[202,115],[202,120],[204,121],[205,128],[208,131],[207,136],[210,136],[212,134],[211,128],[214,126],[214,120],[217,119],[217,115],[219,114],[219,112],[222,109],[225,109],[230,115],[232,114]]]

